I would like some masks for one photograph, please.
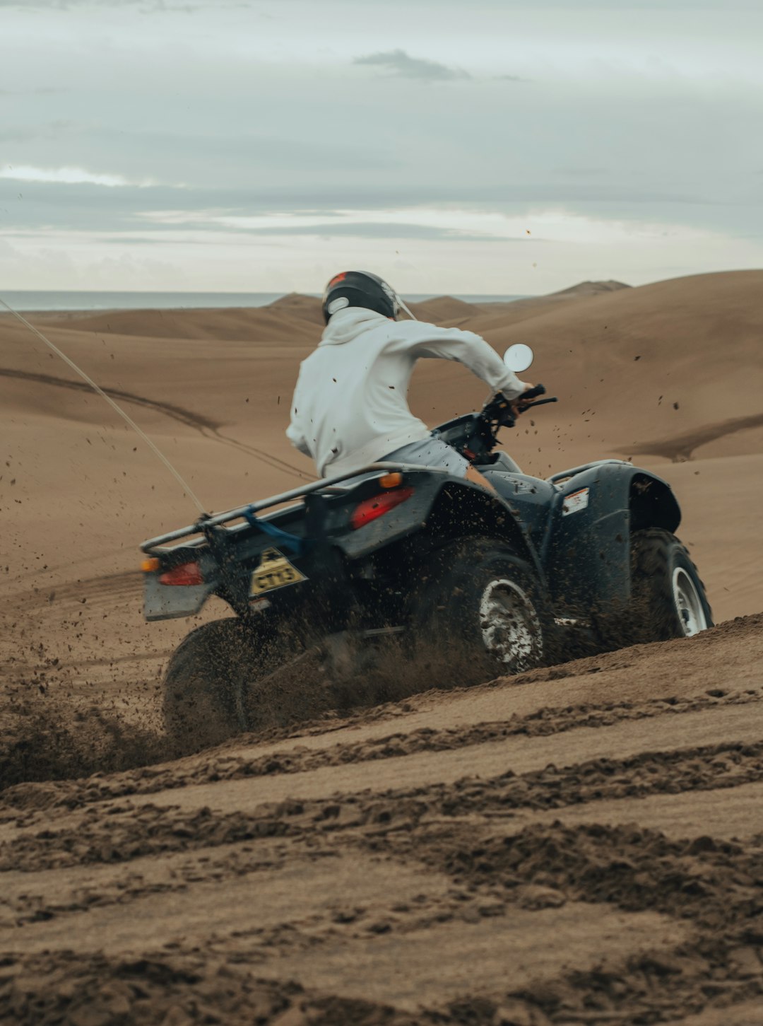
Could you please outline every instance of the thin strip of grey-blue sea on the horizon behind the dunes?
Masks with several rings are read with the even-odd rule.
[[[43,311],[91,311],[91,310],[203,310],[241,307],[267,307],[288,292],[133,292],[108,290],[64,290],[64,289],[9,289],[0,292],[0,299],[21,313],[41,313]],[[320,299],[317,292],[300,294]],[[433,300],[443,292],[405,293],[406,302],[421,303]],[[528,295],[473,295],[448,293],[465,303],[513,303],[530,299]],[[0,313],[2,308],[0,308]]]

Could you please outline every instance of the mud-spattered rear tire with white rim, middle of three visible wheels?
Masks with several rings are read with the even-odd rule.
[[[553,661],[554,619],[531,565],[492,539],[438,549],[414,610],[416,660],[435,686],[514,675]]]

